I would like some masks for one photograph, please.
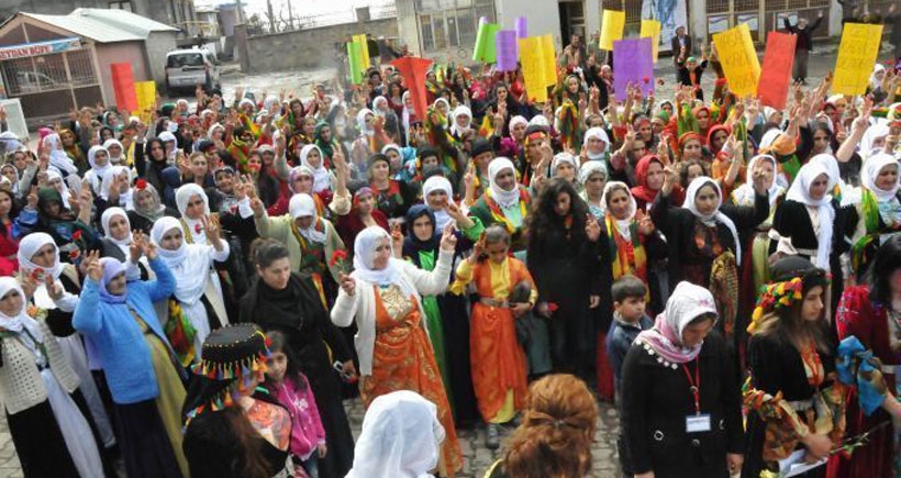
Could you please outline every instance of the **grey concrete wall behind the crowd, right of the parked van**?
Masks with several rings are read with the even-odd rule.
[[[341,59],[335,44],[360,33],[371,33],[376,37],[398,36],[398,22],[396,19],[385,19],[365,22],[363,25],[346,23],[251,36],[247,38],[248,68],[243,67],[242,60],[242,70],[282,71],[334,65]]]

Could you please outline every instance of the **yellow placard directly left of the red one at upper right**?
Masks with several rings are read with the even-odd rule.
[[[730,91],[739,98],[757,95],[757,80],[760,78],[760,60],[750,30],[746,23],[713,35],[716,55],[723,65],[723,73],[728,80]]]

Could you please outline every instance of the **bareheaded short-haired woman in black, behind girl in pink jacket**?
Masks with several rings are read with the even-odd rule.
[[[271,240],[252,247],[257,280],[241,302],[241,322],[254,322],[266,331],[288,337],[302,371],[313,388],[329,454],[319,462],[320,477],[344,477],[354,460],[354,438],[341,403],[341,382],[329,359],[344,364],[343,373],[355,375],[351,352],[332,324],[312,279],[291,273],[288,248]]]

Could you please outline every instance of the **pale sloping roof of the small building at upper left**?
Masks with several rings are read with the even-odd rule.
[[[77,9],[68,15],[21,14],[100,43],[143,41],[152,32],[178,31],[146,16],[115,9]]]

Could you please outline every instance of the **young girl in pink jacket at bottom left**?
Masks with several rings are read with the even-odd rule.
[[[291,414],[291,456],[310,478],[319,477],[316,460],[325,457],[325,430],[319,416],[313,390],[307,377],[298,369],[285,335],[270,331],[270,341],[264,386],[279,404]],[[299,460],[299,463],[298,463]]]

